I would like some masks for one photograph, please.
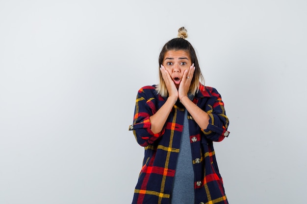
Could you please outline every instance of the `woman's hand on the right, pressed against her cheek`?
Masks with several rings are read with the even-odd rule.
[[[184,96],[188,96],[194,71],[195,71],[194,63],[190,66],[189,69],[184,70],[182,80],[180,82],[178,89],[179,100],[181,100],[181,98]]]

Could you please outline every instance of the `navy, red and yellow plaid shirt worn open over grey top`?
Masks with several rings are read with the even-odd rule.
[[[201,91],[204,90],[205,91]],[[151,131],[149,117],[165,103],[155,91],[155,85],[138,91],[133,125],[129,130],[137,142],[145,147],[145,157],[132,204],[169,204],[180,147],[184,107],[174,105],[163,130]],[[188,113],[189,133],[194,169],[195,204],[228,204],[222,177],[219,173],[213,141],[222,141],[229,135],[229,120],[221,95],[211,87],[200,85],[192,100],[209,114],[209,125],[202,130]]]

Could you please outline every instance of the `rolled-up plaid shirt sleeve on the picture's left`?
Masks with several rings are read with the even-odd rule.
[[[133,125],[129,126],[129,130],[133,130],[136,141],[143,147],[153,144],[153,142],[162,136],[165,131],[165,127],[157,134],[153,134],[151,130],[152,124],[149,117],[157,111],[155,105],[156,99],[152,94],[146,94],[146,92],[152,93],[152,91],[143,88],[138,91],[135,102]]]

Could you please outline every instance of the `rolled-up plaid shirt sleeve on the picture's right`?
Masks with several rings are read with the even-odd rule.
[[[211,94],[214,101],[208,103],[206,107],[206,113],[208,113],[210,117],[209,125],[202,131],[207,139],[219,142],[230,133],[227,131],[229,119],[226,116],[224,102],[222,101],[221,95],[215,89],[212,90]]]

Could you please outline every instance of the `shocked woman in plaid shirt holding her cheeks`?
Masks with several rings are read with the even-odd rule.
[[[229,135],[229,120],[220,94],[201,83],[186,37],[179,28],[178,38],[163,46],[160,83],[137,94],[129,130],[145,157],[132,204],[228,204],[213,141]]]

